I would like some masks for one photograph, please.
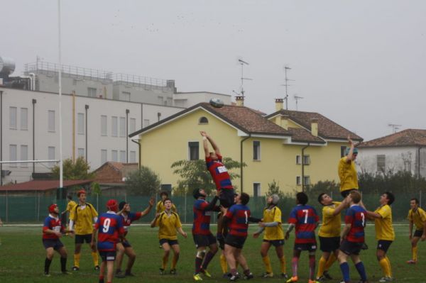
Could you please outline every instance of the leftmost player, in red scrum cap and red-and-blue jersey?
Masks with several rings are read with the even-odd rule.
[[[67,250],[65,250],[59,238],[62,237],[62,233],[72,232],[65,229],[58,216],[58,204],[50,205],[49,216],[45,218],[43,225],[43,245],[46,249],[45,276],[47,277],[50,277],[49,267],[55,250],[60,254],[60,270],[62,274],[70,274],[70,272],[67,272]]]

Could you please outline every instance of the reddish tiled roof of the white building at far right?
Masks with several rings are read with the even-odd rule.
[[[407,129],[361,143],[359,148],[426,146],[426,130]]]

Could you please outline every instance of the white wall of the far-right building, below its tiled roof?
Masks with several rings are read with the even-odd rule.
[[[357,163],[361,170],[376,173],[377,155],[385,155],[386,171],[410,171],[417,174],[419,151],[415,147],[360,148]],[[426,150],[420,150],[420,175],[426,177]]]

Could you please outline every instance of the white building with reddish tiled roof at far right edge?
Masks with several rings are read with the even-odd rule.
[[[357,164],[364,172],[409,171],[426,177],[426,130],[408,129],[362,143]]]

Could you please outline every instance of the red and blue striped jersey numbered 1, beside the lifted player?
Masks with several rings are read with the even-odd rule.
[[[246,237],[249,229],[250,209],[244,204],[234,204],[225,215],[231,219],[228,224],[229,234],[239,237]]]

